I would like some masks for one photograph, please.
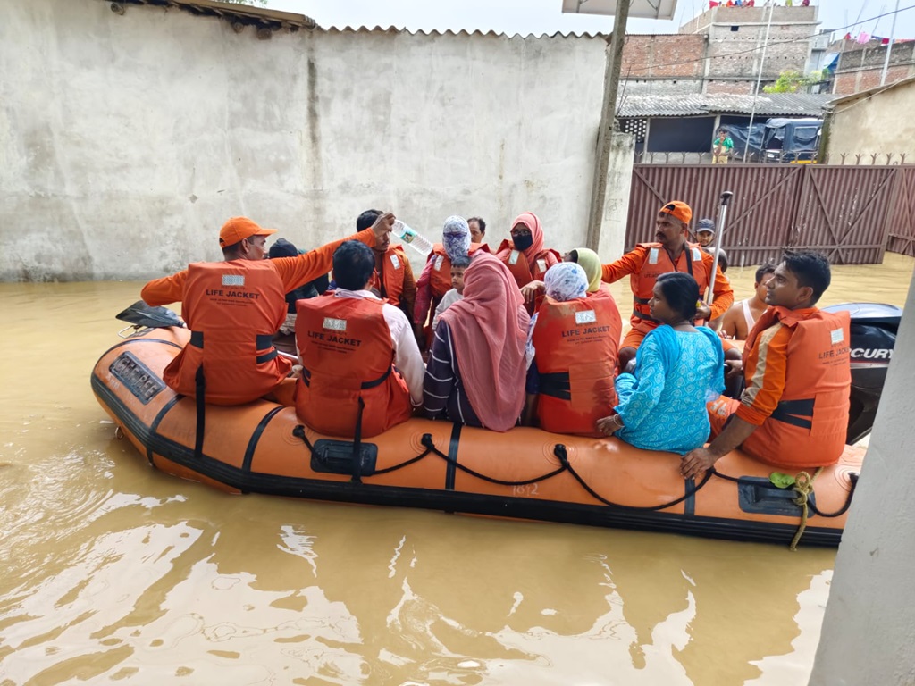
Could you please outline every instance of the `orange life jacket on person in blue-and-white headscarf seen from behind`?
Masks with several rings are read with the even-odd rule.
[[[540,427],[601,435],[596,423],[617,404],[613,378],[622,320],[607,290],[565,303],[544,296],[533,327]]]

